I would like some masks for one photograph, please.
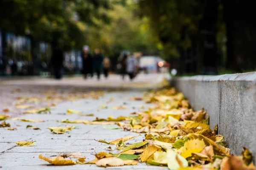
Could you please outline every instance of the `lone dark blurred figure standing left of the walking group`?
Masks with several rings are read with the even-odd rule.
[[[63,68],[63,59],[64,54],[63,51],[59,48],[57,42],[52,42],[52,67],[54,71],[55,79],[62,78],[62,68]]]

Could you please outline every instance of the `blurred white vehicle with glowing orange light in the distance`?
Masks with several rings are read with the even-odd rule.
[[[169,63],[158,56],[143,56],[140,58],[140,71],[159,73],[163,70],[161,68],[169,68]]]

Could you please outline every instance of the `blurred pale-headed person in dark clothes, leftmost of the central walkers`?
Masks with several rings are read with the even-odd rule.
[[[82,59],[84,78],[87,78],[87,74],[90,74],[90,76],[93,77],[93,57],[90,54],[90,48],[88,45],[84,45]]]

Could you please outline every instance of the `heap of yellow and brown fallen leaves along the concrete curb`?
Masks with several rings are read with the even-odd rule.
[[[230,155],[224,136],[218,134],[218,126],[214,130],[209,128],[207,124],[209,116],[204,108],[194,111],[189,101],[175,88],[150,91],[137,100],[141,99],[154,104],[154,107],[132,113],[128,117],[109,116],[107,119],[96,117],[93,121],[65,119],[61,122],[86,125],[116,124],[125,131],[144,133],[143,141],[125,143],[138,136],[120,136],[119,139],[110,142],[98,139],[96,141],[105,143],[105,148],[108,150],[115,148],[120,151],[116,154],[95,153],[95,159],[91,161],[85,161],[85,157],[79,153],[53,158],[40,155],[39,158],[55,165],[78,163],[115,167],[144,162],[155,166],[166,166],[170,170],[255,170],[252,153],[244,147],[241,156]],[[108,107],[102,105],[101,108]],[[124,107],[114,109],[124,109]],[[49,129],[57,134],[71,130],[68,127],[49,127]],[[107,144],[116,147],[109,147]]]

